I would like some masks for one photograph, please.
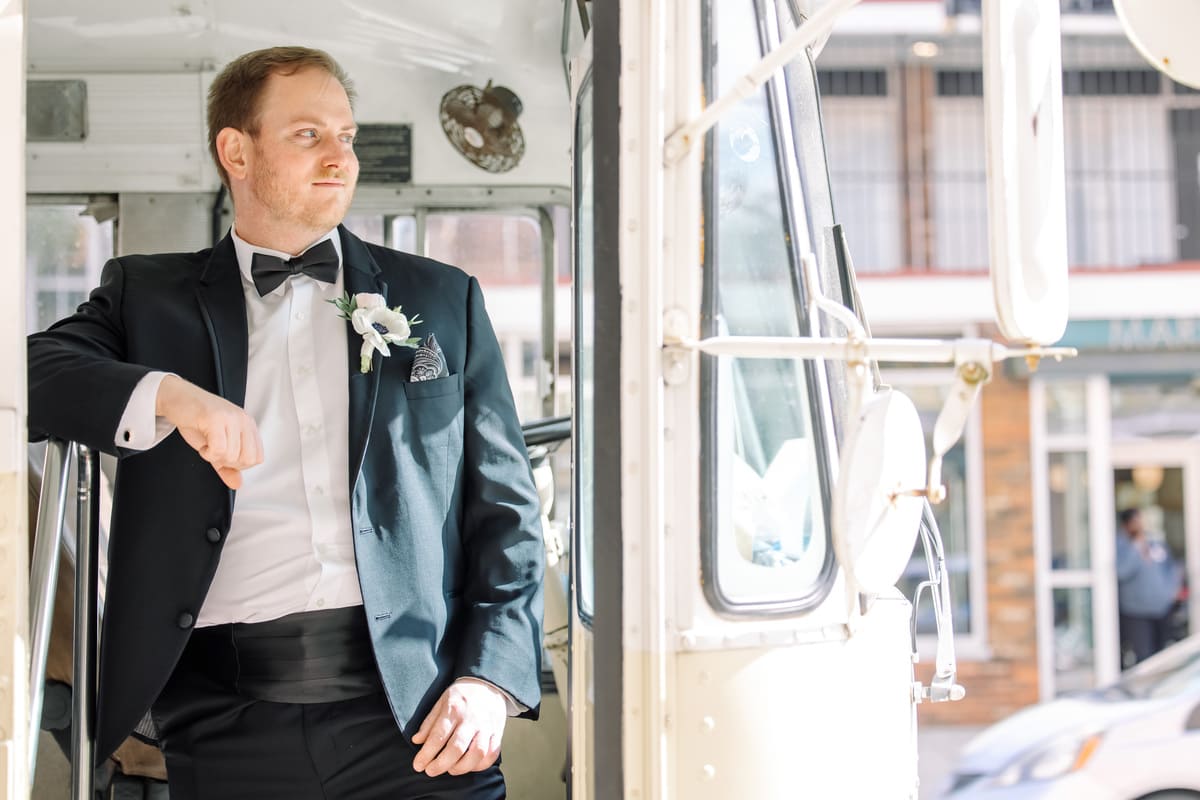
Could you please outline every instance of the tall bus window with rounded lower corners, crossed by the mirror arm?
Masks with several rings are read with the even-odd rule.
[[[709,96],[720,96],[761,56],[755,5],[714,4]],[[768,91],[774,84],[742,101],[709,138],[710,333],[806,332],[794,240],[809,240],[808,222],[803,209],[787,204],[803,198],[788,197],[787,175],[797,164],[794,152],[780,146],[779,109]],[[794,610],[823,595],[828,468],[818,447],[815,385],[815,369],[798,360],[706,357],[703,571],[708,599],[720,610]]]

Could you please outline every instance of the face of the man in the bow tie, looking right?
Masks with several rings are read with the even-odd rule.
[[[238,216],[253,213],[269,228],[319,236],[342,222],[359,178],[346,90],[319,68],[272,74],[259,109]],[[244,207],[247,203],[252,207]]]

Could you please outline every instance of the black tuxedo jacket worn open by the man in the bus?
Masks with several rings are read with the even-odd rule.
[[[538,495],[479,284],[340,229],[344,284],[437,335],[449,378],[409,383],[413,350],[358,371],[347,331],[350,517],[376,660],[397,723],[416,732],[456,678],[486,679],[536,715],[544,551]],[[330,306],[329,313],[336,313]],[[233,241],[109,261],[72,317],[29,338],[31,438],[119,465],[100,649],[96,756],[128,735],[169,676],[221,558],[236,497],[173,433],[144,452],[114,437],[161,369],[241,405],[247,329]],[[288,468],[268,461],[257,469]]]

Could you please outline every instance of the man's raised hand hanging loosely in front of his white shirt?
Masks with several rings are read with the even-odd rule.
[[[241,470],[263,463],[263,443],[254,420],[196,384],[176,375],[163,378],[155,414],[174,425],[230,489],[241,487]]]

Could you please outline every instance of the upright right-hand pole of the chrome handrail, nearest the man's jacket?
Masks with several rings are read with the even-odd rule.
[[[71,783],[74,800],[94,800],[96,708],[96,565],[100,560],[100,463],[78,449],[76,524],[74,686],[71,715]]]

